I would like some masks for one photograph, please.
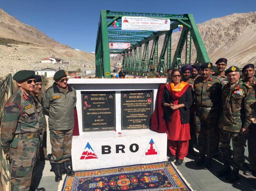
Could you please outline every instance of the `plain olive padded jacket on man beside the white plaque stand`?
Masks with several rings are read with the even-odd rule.
[[[76,90],[67,85],[63,93],[56,83],[46,89],[41,104],[44,114],[49,116],[49,129],[68,130],[74,128],[74,111],[76,106]]]

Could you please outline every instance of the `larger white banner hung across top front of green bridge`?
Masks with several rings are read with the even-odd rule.
[[[170,19],[123,16],[122,30],[168,31],[170,30]]]

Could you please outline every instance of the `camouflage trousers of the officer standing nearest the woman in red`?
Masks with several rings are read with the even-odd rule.
[[[196,138],[200,157],[211,159],[217,151],[217,114],[210,111],[196,111]]]

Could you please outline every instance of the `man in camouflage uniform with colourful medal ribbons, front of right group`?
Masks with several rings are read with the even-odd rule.
[[[246,133],[251,123],[251,105],[255,102],[253,87],[243,83],[239,77],[239,68],[231,66],[226,71],[229,81],[222,90],[223,111],[219,122],[221,128],[219,150],[224,168],[217,172],[217,176],[224,177],[225,182],[234,183],[239,179],[239,169],[244,164],[244,146]],[[233,170],[231,171],[230,140],[233,145]]]

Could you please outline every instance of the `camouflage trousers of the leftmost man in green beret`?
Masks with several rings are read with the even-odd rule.
[[[39,138],[14,138],[10,145],[11,191],[28,191],[37,160]]]

